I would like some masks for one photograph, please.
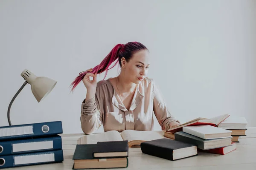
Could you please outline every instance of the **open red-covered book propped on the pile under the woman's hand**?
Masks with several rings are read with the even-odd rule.
[[[213,117],[211,119],[198,117],[197,119],[193,119],[193,120],[191,120],[189,122],[186,122],[186,123],[183,123],[179,126],[170,128],[169,130],[166,130],[166,132],[171,132],[171,133],[179,132],[179,131],[182,131],[182,127],[184,127],[184,126],[211,125],[211,126],[218,127],[218,125],[222,121],[227,119],[228,116],[230,116],[230,115],[229,114],[224,114],[224,115],[221,115],[221,116]]]

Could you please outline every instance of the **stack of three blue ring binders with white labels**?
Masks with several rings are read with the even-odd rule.
[[[0,169],[63,161],[62,122],[0,127]]]

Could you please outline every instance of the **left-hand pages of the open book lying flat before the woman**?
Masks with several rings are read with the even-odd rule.
[[[109,142],[109,141],[122,141],[120,133],[116,130],[111,130],[104,133],[94,133],[90,135],[84,135],[78,139],[78,144],[96,144],[97,142]]]

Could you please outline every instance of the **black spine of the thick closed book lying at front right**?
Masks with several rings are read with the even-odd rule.
[[[157,147],[155,145],[148,144],[145,142],[142,142],[140,144],[140,148],[142,153],[173,161],[173,155],[172,155],[173,150],[171,149]]]

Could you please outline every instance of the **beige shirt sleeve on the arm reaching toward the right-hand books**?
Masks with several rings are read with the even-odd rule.
[[[153,80],[152,80],[153,81]],[[170,122],[179,122],[172,114],[169,112],[166,103],[163,99],[160,89],[155,85],[153,81],[153,110],[154,114],[159,122],[162,130],[168,130],[170,128]]]

